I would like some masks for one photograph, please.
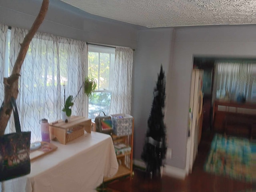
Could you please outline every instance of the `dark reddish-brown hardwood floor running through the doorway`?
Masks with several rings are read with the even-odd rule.
[[[134,177],[115,180],[106,184],[107,192],[254,192],[256,185],[232,180],[224,176],[217,176],[204,172],[204,162],[208,156],[212,134],[202,135],[198,147],[198,155],[194,163],[192,174],[185,180],[170,176],[158,179],[150,177],[139,169],[134,169]],[[254,188],[254,189],[253,189]]]

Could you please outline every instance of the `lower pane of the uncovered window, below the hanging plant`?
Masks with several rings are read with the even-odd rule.
[[[94,119],[101,111],[107,115],[109,113],[111,95],[111,92],[94,92],[89,98],[88,118]]]

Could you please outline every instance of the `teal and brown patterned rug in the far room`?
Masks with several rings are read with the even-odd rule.
[[[204,165],[206,172],[252,182],[256,164],[256,144],[246,138],[216,134]]]

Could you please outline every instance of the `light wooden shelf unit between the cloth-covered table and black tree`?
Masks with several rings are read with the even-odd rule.
[[[132,134],[125,136],[112,135],[113,143],[123,142],[131,147],[131,152],[117,155],[118,171],[112,177],[104,177],[103,182],[118,179],[123,176],[129,176],[132,178],[132,156],[133,156],[133,131],[134,131],[134,119],[132,120]]]

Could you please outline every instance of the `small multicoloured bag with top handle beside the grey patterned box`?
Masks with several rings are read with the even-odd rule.
[[[112,134],[113,128],[112,128],[111,116],[105,115],[103,111],[101,112],[104,114],[104,116],[100,116],[99,114],[95,118],[96,132]]]

